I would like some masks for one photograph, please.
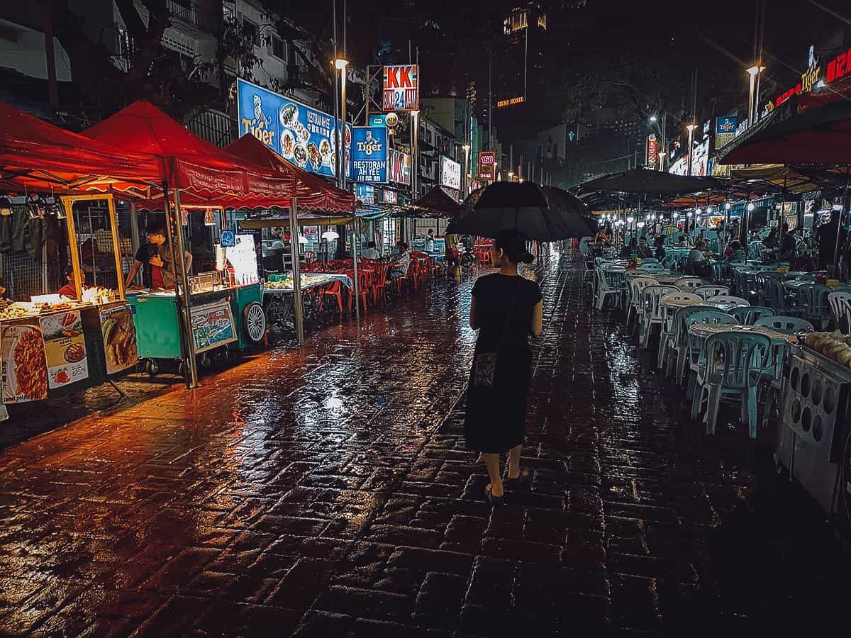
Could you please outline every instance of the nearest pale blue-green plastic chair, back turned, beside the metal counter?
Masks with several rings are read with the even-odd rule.
[[[763,334],[731,331],[706,339],[706,358],[692,400],[692,419],[698,418],[706,401],[706,434],[715,434],[721,399],[738,398],[741,421],[747,422],[751,439],[757,438],[757,389],[774,369],[773,352],[771,339]]]

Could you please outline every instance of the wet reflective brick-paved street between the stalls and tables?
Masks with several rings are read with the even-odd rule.
[[[538,276],[533,481],[505,507],[462,436],[472,277],[438,281],[301,352],[0,452],[0,635],[788,635],[838,618],[848,561],[774,473],[771,430],[703,436],[620,315],[589,309],[580,260],[553,252]]]

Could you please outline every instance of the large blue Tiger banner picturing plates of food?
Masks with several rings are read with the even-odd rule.
[[[250,133],[290,163],[309,173],[334,177],[334,117],[237,78],[239,134]],[[339,127],[338,127],[339,130]],[[346,177],[351,125],[346,124]]]

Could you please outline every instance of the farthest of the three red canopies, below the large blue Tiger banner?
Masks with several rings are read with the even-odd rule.
[[[330,185],[321,177],[287,162],[254,135],[243,135],[226,146],[225,151],[243,162],[262,166],[286,179],[293,189],[291,192],[298,197],[299,208],[334,213],[353,213],[355,210],[354,193]]]

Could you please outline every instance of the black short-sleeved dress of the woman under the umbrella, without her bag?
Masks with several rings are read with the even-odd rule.
[[[481,328],[467,392],[466,445],[476,452],[503,453],[523,442],[526,429],[526,403],[532,376],[528,336],[532,311],[541,299],[540,288],[522,276],[496,273],[479,277],[472,294]],[[511,299],[515,299],[513,310]],[[498,348],[494,385],[473,385],[478,355],[496,352]]]

